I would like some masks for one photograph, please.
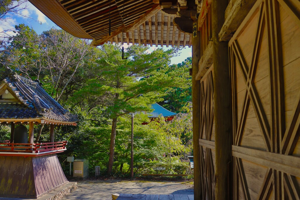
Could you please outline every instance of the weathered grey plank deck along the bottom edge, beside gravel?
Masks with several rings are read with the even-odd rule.
[[[194,195],[190,194],[120,194],[117,200],[194,200]]]

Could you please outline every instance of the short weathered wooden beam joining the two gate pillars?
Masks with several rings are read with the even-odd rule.
[[[196,80],[201,80],[204,74],[208,71],[209,67],[212,65],[212,41],[209,41],[203,55],[199,61],[199,71],[196,76]]]

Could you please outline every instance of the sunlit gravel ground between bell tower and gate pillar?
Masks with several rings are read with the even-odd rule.
[[[114,193],[193,194],[193,181],[80,181],[78,189],[61,200],[107,200]]]

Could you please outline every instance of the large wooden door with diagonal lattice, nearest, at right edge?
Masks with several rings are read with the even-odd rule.
[[[229,41],[233,199],[300,198],[300,1],[256,1]]]

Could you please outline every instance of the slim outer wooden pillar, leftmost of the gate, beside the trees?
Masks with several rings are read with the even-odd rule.
[[[190,36],[192,37],[192,36]],[[202,197],[201,170],[200,170],[200,81],[196,80],[199,71],[198,63],[200,59],[200,32],[192,40],[192,101],[193,101],[193,156],[194,156],[194,199],[200,200]]]

